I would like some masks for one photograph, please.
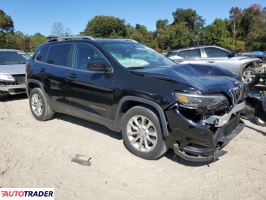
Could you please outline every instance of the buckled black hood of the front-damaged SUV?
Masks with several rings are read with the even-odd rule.
[[[231,72],[211,65],[179,64],[138,69],[135,73],[186,84],[203,94],[220,92],[228,94],[230,89],[242,84]]]

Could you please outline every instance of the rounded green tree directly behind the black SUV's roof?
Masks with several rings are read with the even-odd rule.
[[[127,27],[125,21],[117,17],[95,16],[80,34],[103,38],[121,38],[127,36]]]

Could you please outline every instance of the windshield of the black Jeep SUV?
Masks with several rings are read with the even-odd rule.
[[[125,68],[158,67],[175,64],[155,50],[139,43],[106,43],[103,47]]]

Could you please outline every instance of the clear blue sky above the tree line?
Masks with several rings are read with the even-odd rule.
[[[16,31],[47,36],[55,22],[78,34],[96,15],[116,16],[153,31],[158,19],[172,22],[176,8],[194,9],[210,24],[215,18],[228,18],[231,7],[253,3],[266,7],[266,0],[0,0],[0,9],[12,17]]]

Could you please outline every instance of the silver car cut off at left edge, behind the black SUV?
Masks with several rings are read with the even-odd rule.
[[[14,49],[0,49],[0,99],[25,93],[25,64],[29,56]]]

